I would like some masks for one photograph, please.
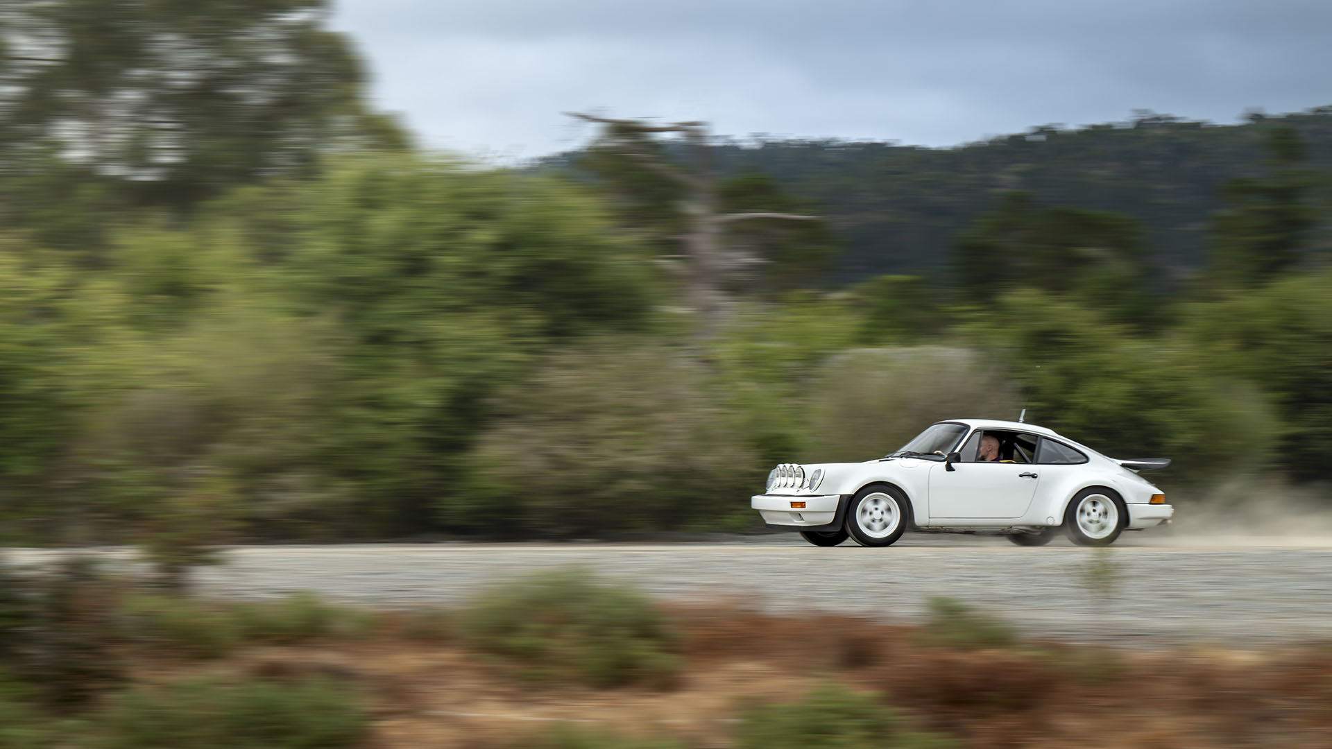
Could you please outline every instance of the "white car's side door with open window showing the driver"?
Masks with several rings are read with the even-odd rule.
[[[963,461],[952,464],[952,470],[942,462],[930,468],[931,524],[940,520],[1010,520],[1027,513],[1040,484],[1040,466],[1027,462],[1031,450],[1019,450],[1015,445],[1020,441],[1035,448],[1036,437],[995,430],[986,433],[1004,440],[1006,460],[1023,462],[975,462],[972,442],[980,438],[982,432],[978,430],[972,440],[967,440],[962,450]]]

